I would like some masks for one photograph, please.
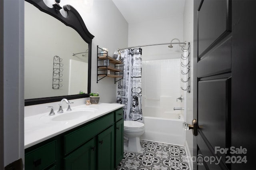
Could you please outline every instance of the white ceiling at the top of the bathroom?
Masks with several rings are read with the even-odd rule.
[[[130,23],[183,15],[185,0],[112,0]]]

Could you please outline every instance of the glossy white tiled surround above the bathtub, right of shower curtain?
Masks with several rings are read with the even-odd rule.
[[[180,89],[180,74],[180,58],[142,61],[144,116],[168,117],[174,107],[182,107],[183,102],[177,101],[178,97],[184,96]]]

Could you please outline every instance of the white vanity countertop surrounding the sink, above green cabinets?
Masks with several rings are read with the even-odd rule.
[[[84,123],[92,121],[98,117],[106,115],[116,109],[122,108],[124,105],[115,103],[99,103],[98,105],[79,105],[71,107],[72,111],[66,111],[64,113],[57,113],[54,110],[55,115],[49,116],[49,112],[40,114],[27,114],[24,118],[24,148],[28,148],[35,144],[38,144],[44,140],[52,138],[58,134],[66,132],[72,128],[78,127]],[[86,111],[88,110],[88,112]],[[53,121],[56,117],[64,114],[72,114],[76,111],[84,111],[84,115],[79,119],[71,119],[66,121]],[[86,115],[87,114],[87,115]],[[76,114],[74,114],[76,115]]]

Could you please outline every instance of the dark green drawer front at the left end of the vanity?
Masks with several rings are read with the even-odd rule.
[[[56,161],[56,140],[25,154],[27,170],[41,170]]]

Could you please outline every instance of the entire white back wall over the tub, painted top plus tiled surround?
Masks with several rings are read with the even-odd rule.
[[[168,43],[173,38],[183,39],[183,16],[162,18],[129,24],[128,46]],[[174,41],[177,42],[177,41]],[[154,45],[142,47],[143,110],[146,116],[168,117],[180,97],[179,45]],[[178,77],[177,77],[178,76]],[[146,98],[146,99],[145,99]],[[148,113],[150,111],[150,113]],[[180,111],[174,111],[180,112]]]

